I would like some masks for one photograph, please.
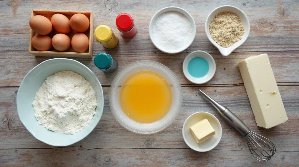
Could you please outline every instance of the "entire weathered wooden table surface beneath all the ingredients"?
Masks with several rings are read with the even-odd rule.
[[[0,166],[299,166],[299,1],[134,1],[64,0],[0,2]],[[216,7],[233,5],[245,12],[250,22],[246,42],[223,57],[208,41],[205,20]],[[159,51],[149,39],[148,25],[161,8],[187,10],[196,23],[192,45],[170,55]],[[103,85],[104,111],[96,128],[85,139],[67,147],[54,147],[36,140],[22,125],[16,109],[16,94],[28,71],[50,57],[34,57],[29,50],[31,9],[86,10],[94,12],[94,27],[110,26],[120,37],[116,48],[107,50],[93,39],[93,55],[107,52],[118,62],[118,70],[104,74],[93,59],[77,58],[89,67]],[[115,27],[121,12],[130,13],[138,26],[132,39],[123,39]],[[216,74],[203,85],[194,85],[183,75],[188,53],[204,50],[216,61]],[[289,121],[271,129],[259,128],[251,111],[237,62],[248,56],[268,53]],[[158,134],[139,135],[127,131],[113,117],[108,102],[110,84],[124,66],[138,60],[153,60],[169,67],[179,78],[183,104],[172,125]],[[199,95],[198,89],[235,112],[253,131],[269,138],[277,152],[268,162],[255,160],[245,139],[222,119]],[[182,137],[185,119],[197,111],[214,114],[222,125],[222,139],[215,149],[199,153]]]

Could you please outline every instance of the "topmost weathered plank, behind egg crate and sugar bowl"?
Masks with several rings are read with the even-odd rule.
[[[197,26],[196,39],[187,49],[188,52],[194,50],[205,50],[210,53],[218,53],[218,50],[208,41],[204,24],[208,14],[216,7],[222,5],[234,5],[240,8],[248,16],[251,24],[251,32],[247,41],[237,48],[236,52],[248,51],[276,51],[276,50],[298,50],[299,40],[299,3],[293,1],[238,1],[223,0],[217,3],[209,1],[97,1],[92,0],[82,5],[81,1],[51,1],[40,3],[40,1],[26,1],[16,9],[13,15],[12,6],[9,1],[1,2],[0,25],[2,39],[0,42],[1,51],[23,50],[27,51],[29,46],[29,26],[30,10],[55,9],[55,10],[80,10],[94,11],[94,28],[100,24],[107,24],[120,36],[115,27],[115,18],[121,12],[130,13],[138,27],[137,35],[132,39],[123,40],[120,38],[120,45],[114,50],[119,54],[124,53],[147,53],[159,51],[148,40],[148,24],[152,16],[161,8],[167,6],[177,6],[187,10],[192,16]],[[18,42],[16,42],[18,41]],[[95,51],[105,51],[94,39]],[[129,42],[129,45],[127,45]]]

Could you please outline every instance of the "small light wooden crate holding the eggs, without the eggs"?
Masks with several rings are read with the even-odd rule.
[[[71,19],[71,16],[77,13],[82,13],[87,18],[89,19],[89,29],[85,32],[86,36],[89,39],[89,48],[85,52],[75,52],[72,46],[68,48],[65,51],[58,51],[54,47],[52,47],[48,51],[39,51],[36,50],[32,45],[31,45],[31,39],[33,36],[36,35],[36,33],[30,28],[30,44],[29,44],[29,52],[33,54],[34,56],[49,56],[49,57],[83,57],[83,58],[92,58],[92,39],[93,39],[93,13],[91,11],[65,11],[65,10],[36,10],[33,9],[31,10],[31,17],[35,15],[41,15],[45,16],[49,20],[51,20],[51,17],[56,14],[56,13],[61,13],[68,17],[68,19]],[[58,32],[54,30],[53,33],[48,34],[51,38],[56,35]],[[76,32],[74,30],[71,31],[71,33],[68,33],[70,38],[74,36]]]

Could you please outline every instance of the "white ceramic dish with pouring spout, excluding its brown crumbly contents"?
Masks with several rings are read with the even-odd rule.
[[[219,14],[221,12],[231,12],[231,13],[236,14],[237,16],[239,16],[242,24],[244,25],[244,34],[242,36],[242,39],[239,40],[238,42],[234,43],[234,45],[231,45],[228,48],[223,48],[222,46],[218,45],[210,35],[210,22],[215,18],[215,16],[217,14]],[[222,54],[222,56],[230,55],[231,52],[233,52],[236,48],[238,48],[240,45],[242,45],[246,41],[246,39],[249,35],[249,31],[250,31],[250,25],[249,25],[249,20],[248,20],[247,16],[245,15],[245,13],[242,10],[240,10],[239,8],[234,7],[234,6],[226,5],[226,6],[217,7],[209,14],[209,16],[205,22],[206,35],[207,35],[208,39],[210,40],[210,42],[216,48],[218,48],[218,50]]]

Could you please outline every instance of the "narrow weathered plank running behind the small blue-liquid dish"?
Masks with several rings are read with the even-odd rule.
[[[97,51],[94,51],[96,54]],[[212,53],[216,62],[215,76],[207,85],[234,85],[243,83],[237,63],[249,56],[256,56],[263,52],[232,53],[228,57],[223,57],[219,53]],[[267,52],[276,82],[279,85],[296,84],[299,85],[299,52]],[[15,55],[15,52],[0,52],[0,86],[19,86],[24,76],[39,63],[51,59],[46,57],[34,57],[31,54],[18,52],[22,59]],[[165,54],[111,54],[118,60],[118,69],[114,73],[103,73],[98,70],[93,63],[93,59],[72,58],[86,65],[98,77],[102,85],[111,85],[117,73],[126,65],[139,60],[152,60],[160,62],[170,68],[178,77],[181,84],[193,84],[184,76],[182,65],[188,53],[175,55]],[[286,82],[286,83],[285,83]],[[193,84],[194,85],[194,84]]]

